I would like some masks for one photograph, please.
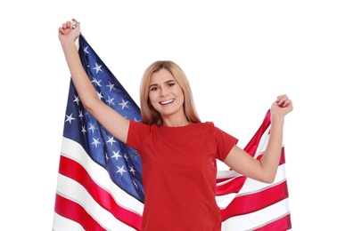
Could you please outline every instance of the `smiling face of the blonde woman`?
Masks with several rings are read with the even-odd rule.
[[[152,74],[149,90],[150,103],[161,117],[185,115],[184,92],[167,69],[161,68]]]

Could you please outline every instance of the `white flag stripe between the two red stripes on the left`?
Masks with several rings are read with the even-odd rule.
[[[106,211],[94,198],[88,194],[85,187],[77,181],[61,174],[58,176],[57,193],[80,204],[90,216],[107,230],[135,230],[116,219],[110,211]]]

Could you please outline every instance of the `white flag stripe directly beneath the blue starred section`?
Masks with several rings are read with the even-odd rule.
[[[129,211],[133,211],[140,216],[143,214],[144,204],[136,200],[135,197],[128,195],[120,189],[120,187],[114,184],[113,181],[111,181],[108,171],[95,163],[77,142],[63,138],[62,155],[81,164],[97,185],[110,192],[111,196],[119,206]]]

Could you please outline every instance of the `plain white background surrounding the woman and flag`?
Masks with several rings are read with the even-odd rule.
[[[51,230],[70,72],[58,40],[76,18],[139,102],[144,69],[174,60],[202,121],[244,147],[286,93],[284,145],[294,230],[336,228],[334,1],[3,1],[1,230]]]

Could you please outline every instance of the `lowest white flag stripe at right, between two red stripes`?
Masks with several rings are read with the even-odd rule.
[[[289,200],[286,198],[263,210],[226,219],[226,221],[222,222],[222,230],[253,230],[266,225],[272,220],[283,218],[289,213]]]

